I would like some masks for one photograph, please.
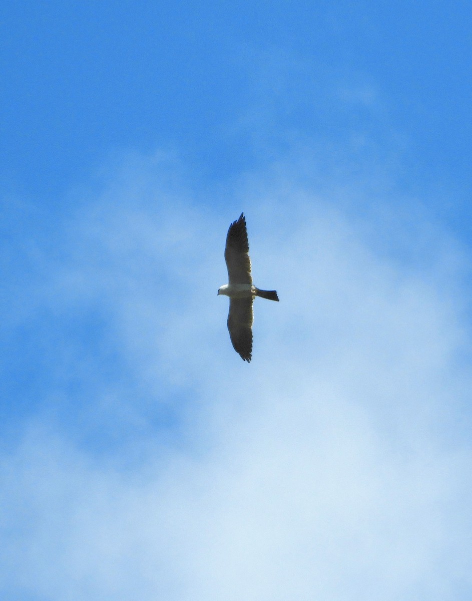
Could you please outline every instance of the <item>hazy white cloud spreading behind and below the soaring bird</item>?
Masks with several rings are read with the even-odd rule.
[[[136,209],[139,192],[85,213],[53,284],[64,311],[93,299],[107,315],[136,383],[118,382],[111,402],[97,386],[100,411],[84,419],[121,413],[132,443],[95,455],[52,419],[29,425],[2,457],[4,590],[61,601],[470,591],[470,436],[455,430],[468,334],[448,273],[460,257],[442,243],[427,267],[381,254],[371,218],[330,208],[326,192],[247,200],[256,283],[281,300],[256,302],[247,365],[216,296],[238,215],[174,208],[153,186]],[[176,395],[169,439],[153,420]]]

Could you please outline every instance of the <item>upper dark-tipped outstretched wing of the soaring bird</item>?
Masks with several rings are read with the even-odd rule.
[[[226,267],[228,267],[229,284],[252,284],[244,213],[241,213],[240,218],[229,226],[228,236],[226,236],[225,261]]]

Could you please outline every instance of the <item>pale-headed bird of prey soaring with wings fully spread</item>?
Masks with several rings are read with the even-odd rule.
[[[252,355],[252,302],[255,296],[278,301],[275,290],[259,290],[252,283],[249,243],[247,242],[246,218],[240,218],[229,226],[226,236],[225,261],[228,267],[228,284],[218,288],[218,294],[229,296],[228,330],[234,350],[243,361]]]

